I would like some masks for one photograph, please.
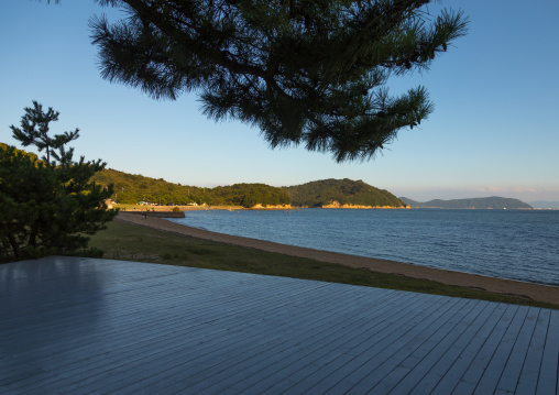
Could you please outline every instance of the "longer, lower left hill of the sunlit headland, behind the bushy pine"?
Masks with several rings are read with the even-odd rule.
[[[264,184],[234,184],[224,187],[200,188],[167,183],[114,169],[105,169],[94,179],[101,185],[114,185],[113,199],[120,204],[149,201],[157,205],[198,205],[253,207],[288,205],[289,196],[282,189]]]

